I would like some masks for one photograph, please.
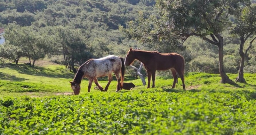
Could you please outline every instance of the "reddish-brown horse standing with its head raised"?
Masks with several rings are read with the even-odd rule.
[[[172,88],[175,88],[175,84],[178,79],[178,76],[176,74],[176,71],[177,71],[182,81],[183,89],[185,89],[185,83],[184,83],[185,60],[180,54],[132,50],[132,48],[130,48],[124,61],[125,66],[130,66],[135,59],[142,62],[144,64],[144,67],[147,70],[147,73],[148,73],[147,88],[150,88],[151,75],[152,75],[152,82],[153,82],[152,88],[155,87],[156,70],[171,69],[173,79],[174,79]]]

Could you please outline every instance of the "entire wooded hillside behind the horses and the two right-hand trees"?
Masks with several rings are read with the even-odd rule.
[[[179,47],[173,46],[170,43],[170,39],[172,38],[168,40],[161,38],[162,40],[154,40],[154,42],[150,43],[128,40],[129,37],[125,37],[125,35],[118,30],[119,25],[123,26],[123,28],[127,28],[130,21],[136,21],[140,16],[142,16],[142,18],[148,18],[150,15],[155,16],[156,23],[164,24],[164,22],[161,22],[159,19],[161,17],[160,12],[164,13],[164,6],[159,10],[163,2],[164,1],[161,3],[160,0],[0,0],[0,26],[4,27],[7,32],[5,34],[7,42],[4,48],[0,50],[4,55],[0,56],[1,58],[10,59],[16,63],[18,63],[20,57],[28,57],[31,58],[30,64],[33,65],[34,60],[46,56],[61,55],[63,58],[56,62],[66,65],[70,71],[74,72],[77,66],[90,58],[100,58],[108,54],[124,57],[129,47],[139,48],[145,45],[145,47],[142,48],[144,50],[159,51],[162,53],[180,53],[186,60],[187,72],[219,73],[218,47],[212,46],[210,43],[197,37],[188,38],[183,43],[184,47]],[[231,1],[227,2],[232,4]],[[249,3],[248,1],[241,2]],[[255,3],[255,1],[251,2]],[[196,5],[200,4],[194,4],[194,6]],[[189,5],[186,6],[188,6],[188,10],[192,9],[189,8]],[[221,3],[218,4],[218,2],[215,6],[222,7]],[[183,12],[180,11],[180,13]],[[165,15],[167,17],[167,14]],[[235,22],[237,16],[239,16],[239,14],[236,14],[236,16],[232,14],[228,16],[228,19]],[[176,17],[178,17],[178,14]],[[221,19],[223,18],[221,17]],[[176,18],[176,20],[179,23],[179,18]],[[193,20],[195,20],[195,18],[191,18],[191,20],[188,21],[193,23]],[[196,22],[200,24],[200,21],[202,20],[197,20]],[[224,31],[221,32],[223,36],[224,68],[227,73],[237,73],[241,59],[239,51],[237,51],[239,50],[240,39],[238,36],[230,34],[231,25],[227,26],[229,22],[227,20],[225,20],[225,22],[226,27],[218,23],[218,26],[224,29]],[[141,26],[144,27],[148,24],[151,23],[141,24]],[[190,30],[190,25],[186,26],[186,28]],[[181,25],[180,27],[182,28]],[[20,28],[20,30],[17,30],[18,33],[16,33],[19,37],[8,36],[8,31],[10,31],[9,33],[13,33],[12,28]],[[159,28],[164,27],[160,25]],[[199,28],[208,30],[202,31],[202,29]],[[210,28],[201,22],[201,25],[198,25],[196,30],[204,35],[204,33],[209,34],[213,29],[216,29],[216,31],[219,30],[217,27]],[[21,44],[26,45],[28,42],[28,40],[25,40],[27,35],[25,35],[22,30],[34,33],[28,35],[32,39],[37,39],[31,45],[37,46],[36,50],[40,50],[40,54],[36,54],[36,52],[35,54],[28,54],[30,50],[19,47]],[[164,29],[162,30],[164,31]],[[42,44],[42,39],[39,40],[38,37],[36,37],[37,35],[47,40]],[[22,43],[18,45],[11,40],[17,38],[24,40],[21,40],[20,42]],[[249,46],[249,41],[251,41],[252,38],[253,37],[249,37],[244,43],[245,49]],[[251,49],[248,50],[248,53],[244,56],[244,72],[255,72],[255,46],[253,45],[254,44],[252,44]],[[18,46],[18,48],[14,48],[13,46]],[[14,50],[12,48],[14,48]],[[31,49],[29,46],[26,48]],[[10,51],[8,52],[8,50]],[[134,72],[129,69],[128,73],[133,74]],[[163,72],[163,75],[165,74],[166,73]]]

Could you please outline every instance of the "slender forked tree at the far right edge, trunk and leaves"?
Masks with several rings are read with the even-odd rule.
[[[244,43],[247,39],[256,35],[256,5],[254,4],[252,6],[245,7],[241,14],[237,14],[235,16],[235,24],[236,26],[231,30],[231,33],[239,36],[241,41],[239,48],[241,60],[236,82],[246,83],[244,79],[244,59],[248,50],[252,47],[252,42],[256,39],[256,37],[252,38],[250,45],[247,47],[245,52]]]

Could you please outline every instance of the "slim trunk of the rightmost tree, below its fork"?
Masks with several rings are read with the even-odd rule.
[[[243,52],[245,40],[243,38],[240,38],[240,40],[241,40],[241,43],[240,43],[240,48],[239,48],[239,55],[241,57],[241,61],[240,61],[239,73],[238,73],[238,76],[236,77],[236,82],[246,83],[246,81],[244,79],[244,57],[245,57],[245,54]]]

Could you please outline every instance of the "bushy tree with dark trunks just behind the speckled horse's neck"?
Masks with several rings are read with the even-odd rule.
[[[82,30],[74,27],[58,26],[53,28],[56,54],[63,55],[64,65],[69,71],[76,73],[76,68],[92,58],[90,47],[86,44],[86,36]]]

